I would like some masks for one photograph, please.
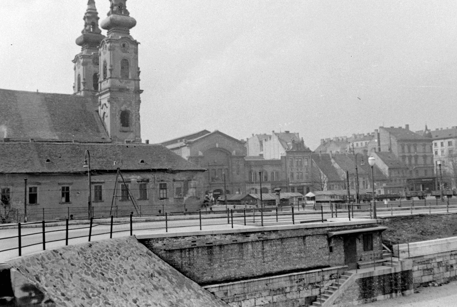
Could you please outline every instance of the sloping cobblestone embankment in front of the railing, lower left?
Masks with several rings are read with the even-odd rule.
[[[52,306],[228,306],[134,237],[67,246],[8,264],[52,300]]]

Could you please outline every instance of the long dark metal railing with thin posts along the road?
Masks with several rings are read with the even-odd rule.
[[[128,235],[139,232],[169,232],[170,229],[179,231],[185,227],[191,227],[192,231],[197,229],[211,229],[217,225],[228,225],[234,228],[236,225],[267,226],[277,224],[296,224],[307,222],[325,222],[329,218],[343,218],[351,221],[354,218],[368,218],[370,215],[370,204],[319,204],[315,209],[303,206],[287,207],[265,207],[265,208],[234,208],[228,210],[199,210],[196,212],[166,212],[156,215],[114,215],[90,218],[90,219],[65,219],[62,221],[36,221],[27,223],[14,223],[0,225],[2,232],[11,232],[11,235],[0,237],[0,249],[2,253],[17,250],[14,255],[21,256],[24,249],[42,245],[46,250],[46,244],[61,242],[61,245],[69,245],[69,241],[77,241],[87,238],[88,242],[94,237],[112,238],[113,234],[125,233]],[[311,205],[312,207],[312,205]],[[378,214],[393,215],[393,212],[401,214],[416,213],[426,214],[437,211],[449,212],[456,209],[457,205],[425,205],[394,206],[393,203],[379,204]],[[428,211],[428,212],[427,212]],[[263,219],[262,219],[263,217]],[[13,234],[17,228],[17,233]],[[27,231],[26,231],[27,230]],[[28,242],[26,242],[28,241]],[[64,242],[64,243],[63,243]],[[36,252],[37,249],[32,252]]]

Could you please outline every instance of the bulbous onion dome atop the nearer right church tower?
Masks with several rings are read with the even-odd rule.
[[[130,29],[135,27],[137,21],[129,16],[125,2],[127,0],[110,0],[111,6],[108,17],[101,22],[101,28],[108,30],[108,36],[117,34],[129,35]]]

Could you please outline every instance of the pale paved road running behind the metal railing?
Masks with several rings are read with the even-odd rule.
[[[385,217],[391,215],[409,215],[411,214],[410,208],[399,208],[393,206],[392,208],[378,208],[378,216]],[[239,211],[240,212],[240,211]],[[429,205],[427,207],[413,207],[413,214],[428,214],[428,213],[446,213],[446,206]],[[449,212],[457,212],[457,207],[449,208]],[[347,209],[334,210],[333,217],[338,217],[341,221],[348,221],[349,216]],[[366,211],[355,210],[353,213],[354,218],[369,218],[369,213]],[[320,220],[322,218],[321,212],[305,208],[301,210],[294,210],[293,222],[300,223],[305,221]],[[327,211],[324,212],[324,219],[332,218],[332,214]],[[352,218],[352,213],[351,213]],[[165,233],[165,220],[163,218],[156,218],[159,221],[138,221],[134,219],[133,234],[149,234],[149,233]],[[276,224],[292,224],[291,211],[276,211],[266,212],[264,214],[264,225]],[[96,221],[96,222],[95,222]],[[198,215],[186,216],[171,216],[167,222],[168,232],[191,232],[200,230],[200,220]],[[243,213],[234,213],[233,227],[244,228],[251,226],[260,226],[260,213],[248,211],[246,216]],[[110,221],[109,220],[94,220],[91,231],[91,241],[104,240],[110,237]],[[45,247],[46,249],[57,248],[65,245],[65,225],[61,226],[47,226],[45,233]],[[229,229],[232,228],[232,216],[221,214],[202,214],[202,230],[208,229]],[[1,229],[0,230],[0,250],[9,248],[16,248],[10,251],[0,252],[0,261],[5,261],[18,256],[19,246],[18,242],[18,229]],[[117,222],[113,225],[112,237],[122,237],[130,235],[130,224],[128,219],[123,223]],[[69,240],[68,244],[77,244],[87,242],[89,236],[89,224],[79,224],[69,226]],[[53,242],[55,241],[55,242]],[[28,246],[32,245],[32,246]],[[42,228],[21,228],[21,247],[22,255],[36,253],[43,250],[43,233]]]

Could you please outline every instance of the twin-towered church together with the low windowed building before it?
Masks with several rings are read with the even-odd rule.
[[[84,14],[73,94],[0,89],[3,222],[201,207],[205,168],[141,140],[138,42],[126,0]],[[102,31],[106,30],[106,36]]]

